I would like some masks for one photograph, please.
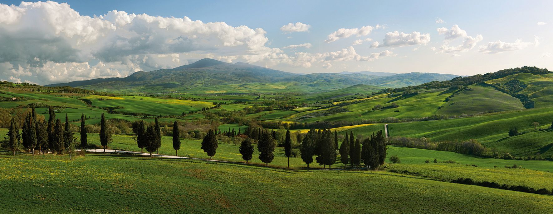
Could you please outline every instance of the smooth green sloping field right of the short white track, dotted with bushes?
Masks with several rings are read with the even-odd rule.
[[[528,109],[494,113],[457,119],[404,122],[388,125],[391,136],[429,137],[433,141],[477,139],[486,146],[509,152],[515,156],[533,156],[540,152],[544,157],[553,155],[551,130],[534,131],[532,123],[539,122],[547,129],[553,121],[553,108]],[[518,127],[524,135],[509,137],[508,130]]]

